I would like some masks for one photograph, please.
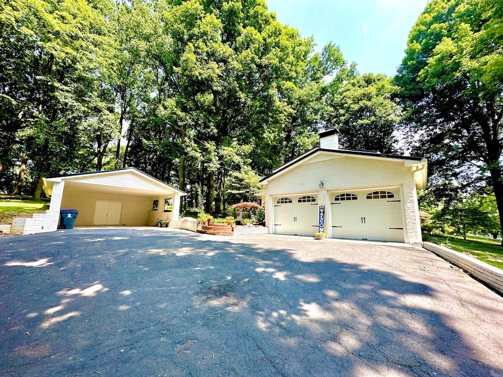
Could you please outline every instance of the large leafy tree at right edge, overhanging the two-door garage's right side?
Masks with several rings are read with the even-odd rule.
[[[433,182],[491,186],[501,221],[502,22],[498,0],[431,1],[395,77],[410,143],[430,157]]]

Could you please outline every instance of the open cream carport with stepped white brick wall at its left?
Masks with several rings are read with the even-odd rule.
[[[12,234],[52,232],[60,209],[75,209],[75,226],[153,225],[178,220],[183,191],[134,167],[44,178],[51,198],[45,214],[15,219]]]

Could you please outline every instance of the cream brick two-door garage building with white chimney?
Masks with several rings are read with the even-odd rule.
[[[269,233],[421,244],[427,160],[339,149],[333,129],[319,136],[319,148],[261,180]]]

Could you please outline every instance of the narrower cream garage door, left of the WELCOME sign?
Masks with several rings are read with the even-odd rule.
[[[274,233],[314,236],[318,229],[318,201],[310,195],[277,198]]]

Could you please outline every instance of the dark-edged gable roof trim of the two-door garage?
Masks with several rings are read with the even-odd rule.
[[[332,130],[328,130],[332,131]],[[273,170],[273,172],[265,178],[262,178],[259,183],[267,184],[270,179],[274,179],[282,173],[290,170],[294,166],[300,164],[302,161],[307,158],[314,156],[317,153],[333,153],[333,154],[342,154],[342,155],[350,155],[361,158],[378,158],[378,159],[389,159],[389,160],[397,160],[403,161],[404,166],[417,166],[416,171],[416,187],[418,190],[426,189],[426,181],[427,181],[427,166],[428,160],[423,157],[414,157],[414,156],[399,156],[396,154],[383,154],[378,152],[371,151],[362,151],[362,150],[350,150],[350,149],[325,149],[325,148],[313,148],[310,151],[307,151],[303,155],[294,158],[293,160],[288,161],[284,165],[279,168]]]

